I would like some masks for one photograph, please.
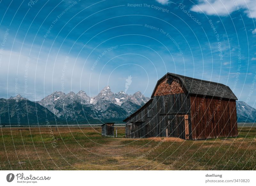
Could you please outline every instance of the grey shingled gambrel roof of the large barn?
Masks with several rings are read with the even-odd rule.
[[[168,75],[175,76],[177,78],[180,78],[181,82],[187,89],[188,93],[190,94],[199,94],[199,95],[207,95],[207,96],[215,96],[215,97],[221,97],[221,98],[228,98],[228,99],[233,99],[237,100],[235,94],[232,92],[232,90],[221,83],[216,83],[212,81],[205,81],[201,79],[196,79],[196,78],[190,78],[187,76],[182,76],[179,74],[173,74],[173,73],[167,73],[157,81],[156,87],[158,83]],[[154,97],[156,87],[151,95],[151,98]]]

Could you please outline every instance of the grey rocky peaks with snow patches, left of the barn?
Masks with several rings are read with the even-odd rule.
[[[69,117],[71,120],[76,120],[89,115],[95,119],[98,117],[109,119],[130,115],[148,100],[149,98],[140,92],[133,95],[123,91],[113,93],[110,87],[106,86],[94,97],[89,97],[82,90],[77,94],[54,92],[42,99],[39,104],[48,108],[59,118]]]

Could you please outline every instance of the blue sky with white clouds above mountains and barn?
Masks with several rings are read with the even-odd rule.
[[[124,91],[129,76],[126,93],[149,97],[172,72],[223,83],[255,107],[253,0],[24,0],[0,7],[0,97],[95,96],[107,85]]]

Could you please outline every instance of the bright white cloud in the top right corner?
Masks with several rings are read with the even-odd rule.
[[[255,0],[200,0],[193,5],[191,11],[205,13],[206,15],[226,16],[234,11],[244,11],[249,18],[256,18]]]

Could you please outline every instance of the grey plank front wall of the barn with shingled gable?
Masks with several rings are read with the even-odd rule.
[[[156,87],[153,101],[143,106],[126,121],[126,138],[166,137],[170,115],[182,115],[178,128],[173,131],[176,137],[185,139],[184,115],[190,114],[190,98],[179,78],[172,77],[172,83],[164,78]],[[176,134],[177,133],[177,134]],[[179,135],[178,135],[179,134]]]

